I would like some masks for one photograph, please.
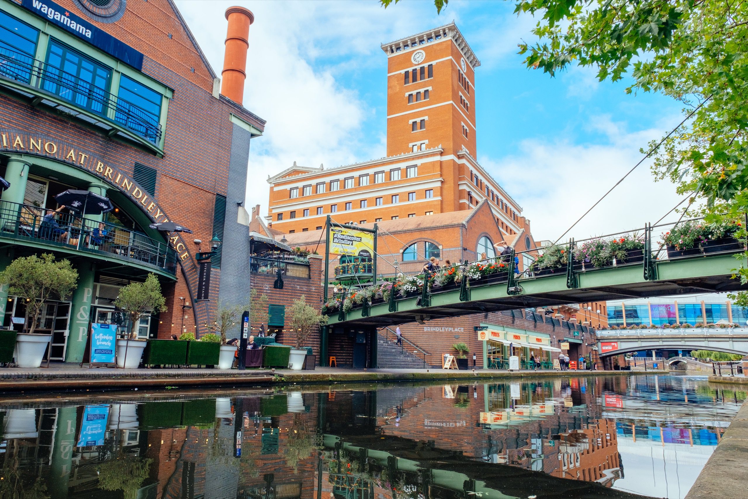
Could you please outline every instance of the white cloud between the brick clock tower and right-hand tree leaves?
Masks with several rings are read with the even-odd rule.
[[[520,153],[498,160],[482,158],[481,164],[524,208],[535,238],[555,240],[642,159],[640,147],[660,138],[678,120],[668,117],[663,120],[667,125],[626,132],[610,117],[592,117],[590,129],[606,133],[608,144],[529,139],[521,143]],[[641,228],[665,215],[681,197],[672,184],[654,183],[650,165],[649,160],[643,162],[564,240]],[[669,215],[663,223],[677,218]]]

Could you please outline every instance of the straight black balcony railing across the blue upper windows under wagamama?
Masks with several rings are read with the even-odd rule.
[[[78,108],[98,114],[109,123],[118,123],[154,144],[161,139],[161,124],[147,111],[96,87],[92,82],[22,52],[0,47],[0,77],[29,85],[38,94],[60,97]]]

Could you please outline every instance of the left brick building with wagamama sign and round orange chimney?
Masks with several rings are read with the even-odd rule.
[[[168,311],[141,319],[138,335],[205,332],[216,301],[246,301],[242,202],[249,144],[265,125],[242,106],[254,16],[226,12],[221,85],[174,1],[57,2],[0,1],[0,175],[10,183],[0,268],[42,253],[76,266],[76,290],[50,303],[37,328],[52,334],[54,360],[81,361],[90,323],[114,321],[120,287],[149,273]],[[49,230],[44,217],[67,189],[103,195],[114,210],[67,207],[56,215],[59,230]],[[164,221],[193,233],[149,227]],[[199,301],[195,257],[211,239],[222,245],[211,260],[209,301]],[[25,315],[7,290],[0,307],[4,327]]]

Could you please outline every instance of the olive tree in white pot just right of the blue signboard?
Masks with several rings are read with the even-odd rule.
[[[161,284],[156,275],[148,274],[145,282],[130,283],[120,289],[114,306],[128,319],[126,337],[117,340],[117,367],[134,369],[140,365],[146,340],[138,340],[136,325],[141,317],[166,311],[166,299],[161,294]]]

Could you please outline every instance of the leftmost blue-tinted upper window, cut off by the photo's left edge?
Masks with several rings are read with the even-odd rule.
[[[0,10],[0,75],[31,82],[39,31]]]

